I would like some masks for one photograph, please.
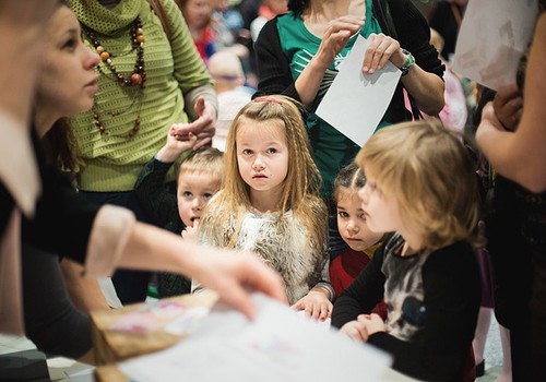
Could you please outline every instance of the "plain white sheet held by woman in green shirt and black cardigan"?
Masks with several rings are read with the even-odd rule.
[[[368,41],[358,35],[317,108],[320,118],[360,146],[376,131],[402,74],[391,61],[372,74],[363,73],[367,46]]]

